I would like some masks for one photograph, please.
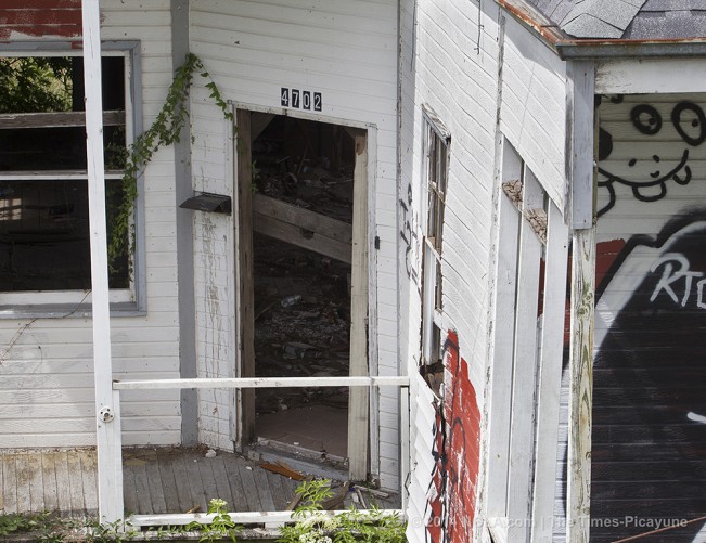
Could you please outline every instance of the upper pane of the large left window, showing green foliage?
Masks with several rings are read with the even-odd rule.
[[[125,165],[125,61],[104,57],[105,165]],[[85,170],[81,57],[0,57],[0,171]],[[22,115],[34,114],[34,115]],[[42,115],[44,114],[44,115]]]

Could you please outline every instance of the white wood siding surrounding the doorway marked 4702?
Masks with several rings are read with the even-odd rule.
[[[371,319],[371,370],[395,375],[397,364],[397,8],[391,0],[218,1],[191,5],[192,50],[223,98],[244,107],[280,108],[282,87],[322,93],[321,120],[370,124],[370,266],[376,285]],[[202,81],[197,81],[201,85]],[[221,113],[197,87],[192,100],[194,188],[232,194],[232,142]],[[296,112],[292,112],[295,114]],[[374,128],[373,128],[374,127]],[[203,375],[231,375],[235,364],[232,218],[195,217],[198,364]],[[371,237],[372,240],[372,237]],[[230,442],[227,395],[202,396],[202,436]],[[380,396],[380,457],[371,470],[398,484],[397,393]]]

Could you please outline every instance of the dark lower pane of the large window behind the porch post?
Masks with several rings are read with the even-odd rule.
[[[108,216],[118,185],[107,185]],[[117,260],[111,287],[127,288],[127,257]],[[86,181],[0,182],[0,281],[3,292],[90,288]]]

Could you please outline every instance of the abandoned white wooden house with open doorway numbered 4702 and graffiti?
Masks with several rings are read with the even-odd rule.
[[[410,541],[706,540],[701,2],[5,0],[0,88],[0,448],[104,518],[280,442]]]

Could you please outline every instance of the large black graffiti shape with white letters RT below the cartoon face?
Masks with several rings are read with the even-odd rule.
[[[703,522],[682,526],[706,514],[705,277],[706,212],[689,212],[631,237],[601,285],[592,536],[669,521],[668,541],[706,538]]]

